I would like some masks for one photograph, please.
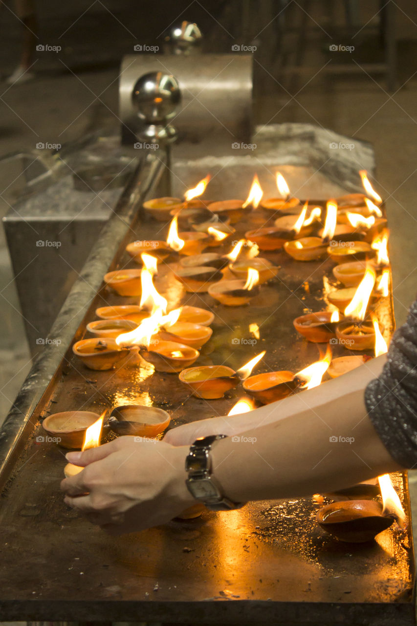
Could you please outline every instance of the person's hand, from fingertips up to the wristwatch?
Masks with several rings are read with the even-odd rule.
[[[166,523],[195,504],[185,485],[187,449],[137,439],[66,455],[85,469],[61,482],[65,502],[111,535]]]

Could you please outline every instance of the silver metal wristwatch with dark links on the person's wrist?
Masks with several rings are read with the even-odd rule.
[[[185,458],[185,470],[188,473],[185,484],[188,491],[212,511],[232,511],[246,504],[245,502],[232,502],[229,498],[225,498],[212,477],[210,456],[212,444],[225,437],[227,437],[225,434],[212,434],[196,439]]]

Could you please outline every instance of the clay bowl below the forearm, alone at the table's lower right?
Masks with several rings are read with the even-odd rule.
[[[317,522],[341,541],[363,543],[393,523],[393,517],[381,514],[382,506],[374,500],[346,500],[323,506],[317,511]]]

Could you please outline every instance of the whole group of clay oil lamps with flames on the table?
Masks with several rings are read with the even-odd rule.
[[[245,202],[208,203],[195,199],[205,189],[209,177],[187,192],[185,201],[156,198],[145,202],[143,208],[153,218],[170,222],[167,241],[129,244],[126,251],[143,266],[142,269],[115,270],[104,277],[106,285],[116,294],[141,296],[140,304],[96,309],[99,319],[87,326],[95,337],[76,342],[74,353],[87,367],[103,370],[115,366],[132,350],[138,351],[156,371],[179,372],[182,384],[198,398],[222,398],[242,381],[245,392],[264,404],[285,398],[299,388],[320,384],[326,371],[336,377],[359,366],[370,357],[353,355],[331,360],[331,351],[327,348],[324,358],[296,374],[277,371],[250,376],[265,352],[237,371],[227,366],[190,367],[199,356],[198,350],[212,336],[210,324],[214,321],[214,314],[190,306],[167,314],[167,300],[158,294],[153,284],[157,262],[164,262],[173,251],[177,252],[179,263],[172,265],[171,269],[187,292],[208,292],[221,304],[239,306],[249,303],[259,293],[259,285],[274,278],[279,270],[269,260],[259,257],[259,250],[283,249],[298,261],[330,257],[337,263],[333,269],[334,277],[344,285],[342,289],[327,294],[329,308],[333,310],[297,317],[294,320],[297,332],[307,341],[322,343],[336,339],[351,350],[374,347],[376,354],[382,354],[387,347],[378,319],[373,313],[367,316],[369,301],[375,302],[389,292],[388,231],[379,208],[382,200],[371,187],[366,172],[361,172],[361,177],[366,195],[349,194],[329,200],[324,225],[324,207],[309,207],[308,203],[301,207],[299,200],[291,197],[281,174],[277,175],[277,186],[282,197],[263,202],[257,177]],[[274,217],[279,212],[280,217],[275,218],[273,227],[264,225],[262,210],[274,212]],[[240,240],[229,254],[203,254],[205,248],[223,244],[232,237],[235,233],[232,224],[237,223],[245,212],[250,212],[251,221],[260,227],[248,230],[245,239]],[[178,232],[178,225],[187,228],[190,224],[192,231]],[[259,337],[257,325],[250,326],[255,327],[254,332]],[[230,414],[252,408],[253,404],[240,402]],[[100,443],[103,418],[96,420],[97,417],[90,412],[65,412],[49,416],[43,426],[49,433],[60,436],[64,447],[83,446],[85,449]],[[116,434],[154,437],[167,428],[169,421],[170,416],[162,409],[124,406],[112,411],[108,426]],[[80,468],[67,466],[66,475],[76,471]],[[391,500],[395,495],[391,488]],[[324,507],[319,511],[317,520],[339,538],[358,541],[373,537],[375,529],[379,528],[378,532],[383,530],[395,516],[399,516],[398,513],[386,515],[386,507],[383,513],[379,503],[373,500],[364,502],[352,500],[344,506],[337,503],[336,508],[329,505],[329,510]],[[193,516],[193,513],[185,516]],[[369,523],[370,517],[374,518],[374,523],[369,526],[371,531],[359,524],[358,534],[358,518]],[[350,526],[353,520],[354,532],[349,535],[348,528],[346,535],[346,523]]]

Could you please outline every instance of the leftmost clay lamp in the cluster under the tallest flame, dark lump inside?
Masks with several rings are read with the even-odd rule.
[[[115,339],[95,337],[94,339],[81,339],[73,345],[73,352],[89,369],[111,369],[124,359],[129,350],[120,348]]]

